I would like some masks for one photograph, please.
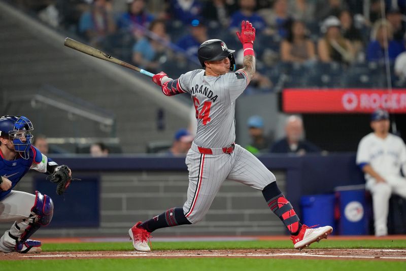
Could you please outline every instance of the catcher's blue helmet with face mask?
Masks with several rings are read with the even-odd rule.
[[[0,118],[0,136],[8,137],[16,152],[24,159],[29,158],[33,126],[24,116],[3,116]]]

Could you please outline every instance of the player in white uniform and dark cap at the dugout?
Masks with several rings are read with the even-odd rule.
[[[376,110],[371,115],[374,132],[361,139],[357,164],[365,173],[366,189],[371,192],[375,219],[375,235],[388,234],[389,198],[392,193],[406,199],[406,146],[401,138],[389,133],[389,114]]]

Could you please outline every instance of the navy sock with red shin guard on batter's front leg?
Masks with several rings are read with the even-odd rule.
[[[279,190],[276,182],[265,186],[262,190],[262,194],[270,210],[282,220],[290,234],[297,235],[301,228],[299,217],[296,215],[290,202],[286,199],[281,190]]]

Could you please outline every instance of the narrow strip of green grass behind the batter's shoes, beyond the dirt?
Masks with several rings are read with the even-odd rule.
[[[43,244],[44,251],[96,251],[132,250],[130,242],[125,243],[70,243]],[[312,249],[333,248],[406,248],[406,240],[322,240],[311,245]],[[292,242],[286,241],[226,241],[226,242],[153,242],[153,250],[201,250],[201,249],[293,249]]]

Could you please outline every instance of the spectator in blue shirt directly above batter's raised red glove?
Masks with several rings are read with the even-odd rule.
[[[239,0],[240,10],[231,16],[229,29],[234,31],[241,27],[242,21],[250,21],[257,32],[265,29],[264,19],[255,12],[256,0]]]

